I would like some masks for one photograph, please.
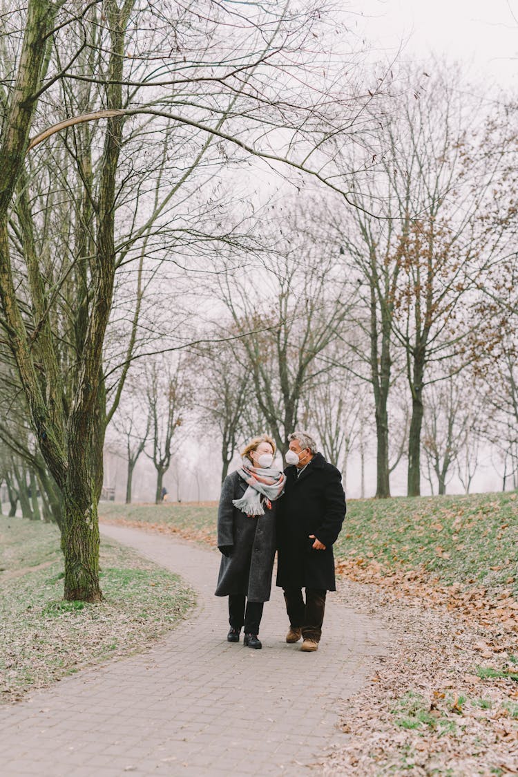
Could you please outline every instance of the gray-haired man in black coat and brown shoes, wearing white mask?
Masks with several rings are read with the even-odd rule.
[[[301,650],[312,653],[322,635],[325,596],[336,590],[332,545],[342,528],[346,497],[340,472],[317,452],[307,432],[295,431],[288,440],[290,466],[277,510],[277,585],[290,618],[286,641],[302,637]]]

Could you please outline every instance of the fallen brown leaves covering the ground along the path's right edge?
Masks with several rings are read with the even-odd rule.
[[[363,691],[341,702],[347,736],[321,762],[324,775],[518,774],[518,683],[492,676],[518,669],[516,639],[506,646],[446,605],[389,588],[342,580],[338,596],[382,615],[392,638]]]

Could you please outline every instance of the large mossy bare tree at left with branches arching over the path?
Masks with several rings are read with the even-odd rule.
[[[2,328],[33,434],[61,495],[69,599],[101,598],[103,438],[134,357],[138,323],[136,311],[119,363],[105,371],[116,273],[142,249],[171,256],[182,242],[173,200],[209,149],[219,168],[255,155],[325,179],[306,160],[308,144],[325,145],[329,137],[329,90],[315,89],[316,99],[308,100],[304,86],[304,104],[304,89],[291,75],[296,61],[304,67],[318,6],[291,12],[266,4],[248,19],[208,2],[176,10],[134,0],[30,0],[5,28],[20,45],[2,47],[5,83],[14,84],[0,101]],[[47,117],[56,113],[61,120],[49,127]],[[163,170],[148,156],[151,120],[163,134],[162,158],[175,160],[159,197],[148,197],[143,183],[144,166]],[[269,139],[282,128],[290,135],[287,155],[273,154]],[[298,138],[304,148],[297,159]],[[65,204],[64,191],[71,193]],[[54,242],[41,244],[50,221]],[[120,230],[127,221],[129,236]]]

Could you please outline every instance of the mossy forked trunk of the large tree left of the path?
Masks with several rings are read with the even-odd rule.
[[[83,318],[82,349],[77,354],[73,391],[65,399],[59,345],[54,335],[49,300],[35,249],[33,220],[27,200],[20,200],[24,259],[35,326],[28,331],[10,256],[8,222],[13,194],[24,176],[24,159],[42,76],[50,31],[63,3],[30,0],[16,85],[0,148],[0,298],[9,347],[30,410],[33,431],[44,461],[61,492],[64,551],[64,597],[98,601],[99,524],[97,501],[103,482],[103,439],[106,428],[106,397],[103,385],[103,342],[113,300],[115,274],[114,214],[116,171],[120,155],[123,120],[107,122],[103,156],[99,167],[99,190],[94,201],[96,252],[90,257],[89,298]],[[106,73],[106,104],[122,105],[124,31],[134,3],[115,0],[103,3],[110,30],[110,55]],[[25,187],[22,187],[23,189]]]

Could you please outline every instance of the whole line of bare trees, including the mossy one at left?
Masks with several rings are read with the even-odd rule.
[[[102,595],[109,427],[127,500],[193,424],[223,476],[304,424],[345,470],[374,438],[377,497],[402,460],[469,488],[485,442],[516,486],[512,103],[364,63],[316,2],[4,6],[0,475],[65,598]]]

